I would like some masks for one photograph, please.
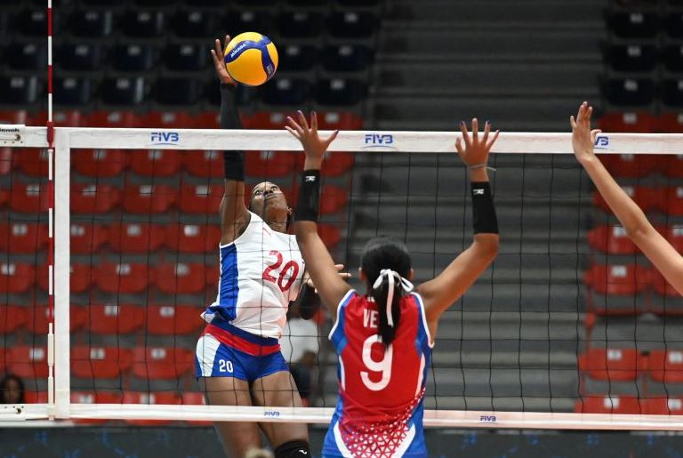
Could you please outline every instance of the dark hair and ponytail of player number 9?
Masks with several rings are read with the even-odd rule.
[[[410,253],[406,245],[390,237],[374,237],[367,242],[361,257],[361,268],[366,274],[368,285],[367,290],[374,301],[380,315],[378,334],[382,337],[382,343],[389,347],[396,337],[396,330],[401,319],[401,299],[406,295],[406,291],[401,285],[398,277],[393,277],[390,282],[389,276],[398,274],[400,277],[407,277],[410,274]],[[395,272],[382,275],[382,269],[391,269]],[[382,275],[382,280],[375,288],[375,281]],[[393,283],[393,298],[391,300],[391,317],[394,325],[389,325],[387,316],[387,300],[390,293],[390,283]]]

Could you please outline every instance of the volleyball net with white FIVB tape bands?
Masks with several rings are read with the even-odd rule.
[[[458,135],[344,131],[331,145],[321,237],[359,290],[371,237],[406,242],[415,284],[470,244]],[[299,142],[284,130],[57,128],[52,154],[47,140],[41,127],[0,129],[0,372],[28,394],[0,420],[329,422],[325,310],[290,317],[282,339],[306,407],[205,406],[194,375],[218,280],[220,151],[245,150],[247,187],[275,182],[292,203]],[[494,145],[501,250],[440,322],[426,425],[683,429],[683,299],[571,148],[569,133]],[[680,251],[683,134],[602,134],[596,150]]]

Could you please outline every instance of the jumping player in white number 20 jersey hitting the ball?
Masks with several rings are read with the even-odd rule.
[[[212,55],[221,79],[221,128],[239,129],[236,84],[221,60],[219,40]],[[296,239],[286,234],[292,209],[269,181],[254,186],[247,208],[242,153],[225,151],[223,157],[220,282],[216,301],[202,314],[207,325],[197,341],[197,378],[211,405],[301,406],[278,342],[304,272]],[[303,316],[312,288],[304,294]],[[306,424],[281,422],[217,422],[226,454],[242,458],[261,446],[259,426],[276,458],[311,456]]]

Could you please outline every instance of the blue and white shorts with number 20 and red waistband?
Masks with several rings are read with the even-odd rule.
[[[233,327],[233,326],[230,326]],[[277,339],[208,325],[197,341],[195,369],[199,377],[235,377],[252,383],[277,372],[289,372]]]

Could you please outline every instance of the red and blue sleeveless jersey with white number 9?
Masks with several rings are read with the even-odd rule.
[[[401,300],[394,340],[385,348],[378,305],[347,293],[330,340],[339,357],[339,401],[325,437],[325,456],[425,456],[422,397],[431,338],[422,298]]]

